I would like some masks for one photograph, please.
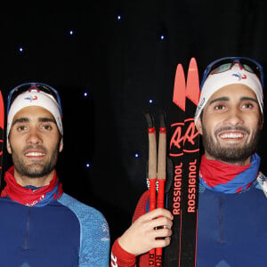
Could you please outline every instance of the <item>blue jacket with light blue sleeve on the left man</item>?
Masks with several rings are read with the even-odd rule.
[[[103,215],[63,193],[46,206],[0,198],[1,267],[109,266]]]

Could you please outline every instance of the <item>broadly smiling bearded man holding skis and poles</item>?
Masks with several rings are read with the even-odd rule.
[[[248,58],[219,59],[206,68],[200,88],[195,123],[205,153],[199,175],[197,266],[266,266],[267,181],[255,153],[263,128],[262,66]],[[141,232],[146,237],[158,231],[149,214],[113,245],[111,260],[117,266],[149,266],[146,253],[157,240],[138,239]],[[144,229],[147,225],[154,228]],[[160,236],[165,237],[154,233],[152,238]],[[137,260],[137,255],[142,256]]]

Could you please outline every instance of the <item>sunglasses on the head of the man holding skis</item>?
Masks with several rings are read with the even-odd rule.
[[[259,62],[247,57],[227,57],[213,61],[206,67],[200,88],[202,88],[209,75],[223,73],[230,70],[235,64],[238,64],[240,69],[245,69],[250,73],[254,73],[263,86],[263,67]]]

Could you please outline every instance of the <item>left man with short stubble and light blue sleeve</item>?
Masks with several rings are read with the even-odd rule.
[[[13,166],[0,198],[0,265],[107,266],[105,218],[64,193],[56,174],[63,149],[59,94],[49,85],[19,85],[9,94],[7,115]]]

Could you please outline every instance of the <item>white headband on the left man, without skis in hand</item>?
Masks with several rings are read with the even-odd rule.
[[[7,126],[6,126],[6,136],[8,138],[9,132],[12,126],[13,117],[16,115],[20,109],[29,106],[39,106],[47,109],[52,113],[56,124],[58,126],[59,132],[63,135],[63,126],[61,120],[61,111],[57,101],[54,100],[53,96],[38,90],[30,90],[25,93],[21,93],[12,102],[9,113],[7,114]]]

